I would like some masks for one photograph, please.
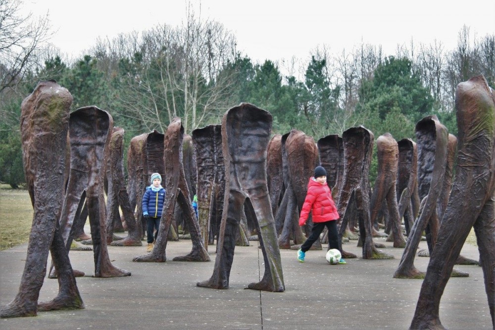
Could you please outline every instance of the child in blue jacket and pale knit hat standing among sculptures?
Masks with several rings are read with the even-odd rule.
[[[153,250],[154,241],[158,235],[166,194],[166,190],[161,186],[161,175],[159,173],[151,174],[150,181],[151,186],[146,188],[143,195],[143,217],[146,219],[148,226],[146,231],[148,252]],[[156,230],[156,233],[153,236],[154,230]]]

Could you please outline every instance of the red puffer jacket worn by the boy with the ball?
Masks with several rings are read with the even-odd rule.
[[[335,207],[330,188],[327,184],[319,184],[313,178],[309,179],[308,192],[299,216],[299,226],[303,226],[306,223],[309,211],[313,215],[313,222],[326,222],[339,219],[339,212],[337,212],[337,207]]]

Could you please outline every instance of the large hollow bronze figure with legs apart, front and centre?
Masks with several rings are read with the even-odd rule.
[[[236,232],[243,205],[256,218],[258,240],[265,272],[248,288],[281,292],[285,290],[280,250],[266,183],[266,149],[272,116],[252,104],[241,103],[222,119],[222,146],[225,160],[225,200],[218,239],[218,251],[211,278],[198,286],[227,289],[234,259]]]

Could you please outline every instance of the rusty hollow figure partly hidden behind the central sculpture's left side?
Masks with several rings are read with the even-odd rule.
[[[204,247],[208,249],[215,236],[218,239],[225,191],[221,125],[196,129],[192,138],[198,173],[198,222]]]

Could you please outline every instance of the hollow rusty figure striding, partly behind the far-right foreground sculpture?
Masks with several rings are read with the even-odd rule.
[[[444,182],[448,133],[446,127],[438,121],[437,116],[428,116],[416,124],[416,138],[418,141],[418,187],[419,197],[424,199],[423,208],[408,236],[402,258],[394,274],[395,278],[422,279],[424,273],[414,267],[414,256],[423,230],[429,223],[433,225],[427,231],[427,240],[431,244],[432,238],[436,237],[436,207]]]

